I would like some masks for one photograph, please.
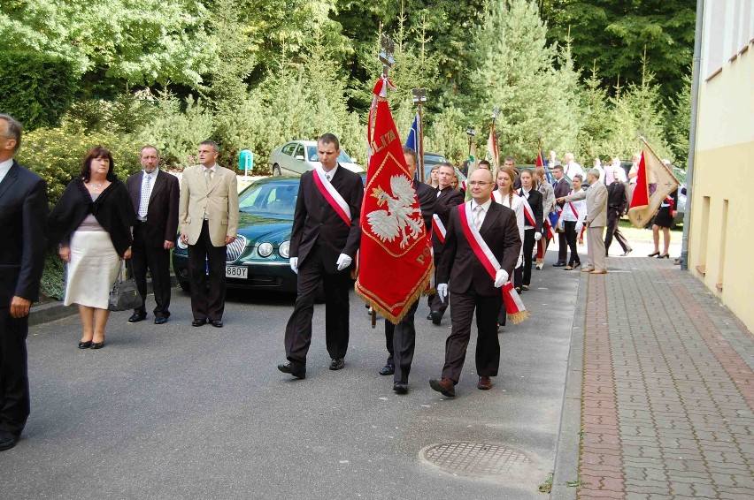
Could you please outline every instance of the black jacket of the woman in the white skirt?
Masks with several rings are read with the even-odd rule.
[[[50,246],[71,238],[88,214],[110,234],[112,246],[119,255],[126,253],[133,242],[131,227],[136,217],[126,186],[118,179],[92,201],[87,186],[81,178],[74,178],[65,187],[63,197],[50,212]]]

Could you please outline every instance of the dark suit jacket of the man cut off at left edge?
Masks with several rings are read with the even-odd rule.
[[[39,299],[47,247],[47,183],[13,161],[0,183],[0,307],[13,296]]]

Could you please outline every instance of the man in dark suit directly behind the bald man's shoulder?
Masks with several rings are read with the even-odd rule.
[[[442,163],[437,174],[437,201],[435,202],[435,231],[432,231],[432,248],[435,252],[435,283],[437,281],[437,265],[442,258],[443,249],[443,237],[442,228],[448,226],[448,217],[450,217],[450,209],[457,207],[464,202],[464,195],[457,189],[453,189],[450,183],[453,180],[453,176],[456,175],[456,169],[450,163]],[[439,220],[438,220],[439,219]],[[429,315],[427,320],[432,320],[433,323],[439,325],[442,322],[442,314],[445,314],[445,309],[448,305],[443,303],[441,299],[437,297],[437,294],[431,295],[427,299],[429,303]]]

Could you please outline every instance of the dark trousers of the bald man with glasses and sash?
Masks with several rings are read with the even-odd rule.
[[[500,366],[500,342],[497,339],[497,314],[503,296],[479,295],[473,285],[464,293],[450,293],[450,337],[445,341],[445,366],[442,377],[458,383],[464,367],[466,348],[471,338],[471,323],[476,309],[476,373],[496,376]]]

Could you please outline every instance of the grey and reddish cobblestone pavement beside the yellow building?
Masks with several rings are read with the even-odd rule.
[[[672,261],[608,264],[585,277],[578,497],[754,498],[754,337]]]

